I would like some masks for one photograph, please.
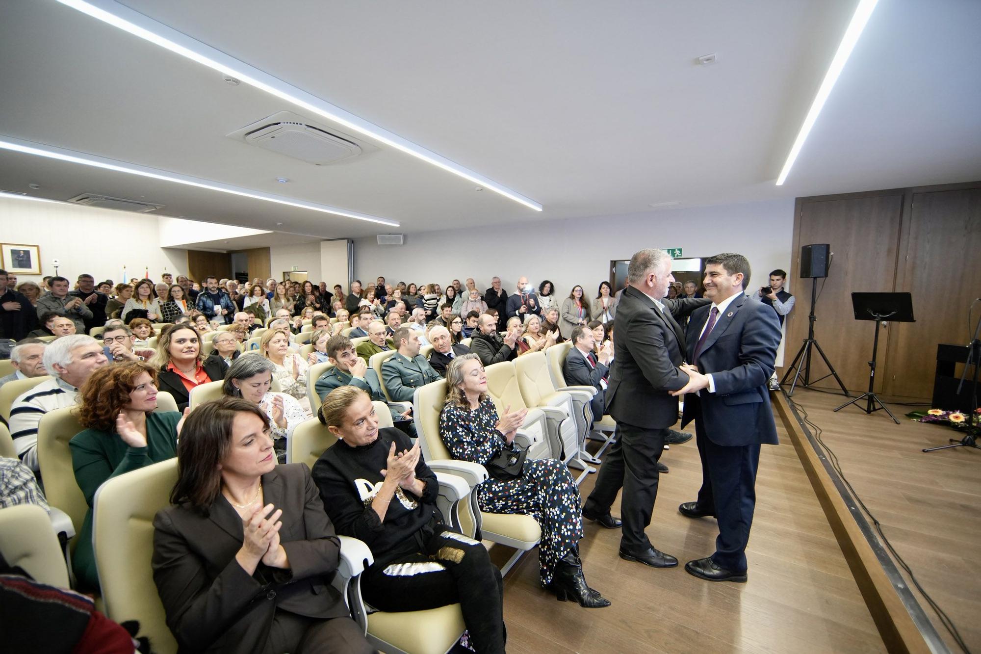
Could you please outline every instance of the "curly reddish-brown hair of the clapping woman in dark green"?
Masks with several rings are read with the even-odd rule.
[[[126,361],[96,368],[78,390],[78,422],[87,429],[114,431],[116,416],[129,405],[136,378],[150,375],[157,385],[157,371],[143,361]]]

